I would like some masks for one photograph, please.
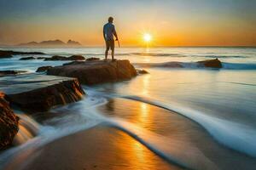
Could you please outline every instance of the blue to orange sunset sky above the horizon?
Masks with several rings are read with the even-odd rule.
[[[0,0],[0,44],[69,39],[103,46],[108,17],[123,46],[256,46],[255,0]]]

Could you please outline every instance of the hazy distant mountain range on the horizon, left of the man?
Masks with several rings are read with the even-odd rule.
[[[82,46],[79,42],[68,40],[67,43],[61,40],[48,40],[43,42],[26,42],[20,43],[18,46],[22,47],[79,47]]]

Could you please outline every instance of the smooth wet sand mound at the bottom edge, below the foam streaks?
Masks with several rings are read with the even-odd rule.
[[[22,154],[26,157],[26,152]],[[113,127],[93,127],[57,139],[36,150],[21,165],[6,169],[180,169],[148,150],[129,135]]]

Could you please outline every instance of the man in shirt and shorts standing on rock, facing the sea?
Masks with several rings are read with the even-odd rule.
[[[103,27],[103,37],[106,42],[106,51],[105,51],[105,59],[107,60],[108,58],[108,50],[111,48],[111,55],[112,55],[112,60],[113,55],[114,55],[114,40],[113,36],[116,38],[115,41],[118,41],[118,36],[116,34],[115,28],[113,26],[113,17],[108,18],[108,23],[104,25]]]

